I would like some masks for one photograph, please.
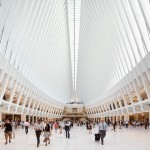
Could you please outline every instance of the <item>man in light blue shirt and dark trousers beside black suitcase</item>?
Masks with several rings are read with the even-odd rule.
[[[104,121],[104,118],[102,118],[99,123],[99,134],[100,134],[100,139],[101,139],[102,145],[104,145],[104,138],[106,136],[106,130],[107,130],[107,124]]]

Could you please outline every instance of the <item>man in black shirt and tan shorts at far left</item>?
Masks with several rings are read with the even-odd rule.
[[[8,119],[6,120],[4,127],[5,127],[4,132],[5,132],[5,139],[6,139],[5,144],[7,144],[8,138],[9,138],[9,142],[11,142],[10,140],[12,139],[12,125]]]

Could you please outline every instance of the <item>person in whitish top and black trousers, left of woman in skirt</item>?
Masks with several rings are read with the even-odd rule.
[[[37,138],[37,147],[40,145],[40,136],[41,132],[43,131],[43,124],[41,123],[41,120],[38,120],[37,123],[34,125],[34,130]]]

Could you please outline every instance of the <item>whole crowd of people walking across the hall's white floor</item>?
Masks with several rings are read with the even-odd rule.
[[[94,121],[78,121],[76,122],[77,126],[85,126],[88,130],[89,134],[92,134],[92,129],[95,128],[95,126],[98,126],[98,133],[95,134],[95,140],[100,141],[101,144],[104,145],[104,138],[106,136],[106,131],[108,127],[112,127],[111,130],[116,131],[116,127],[118,126],[119,129],[121,129],[123,126],[125,128],[128,128],[128,126],[133,127],[140,127],[144,125],[145,129],[149,127],[149,121],[146,119],[146,121],[141,124],[139,121],[114,121],[111,122],[109,119],[105,122],[105,119],[102,118],[100,122],[94,122]],[[7,119],[6,121],[3,121],[1,123],[1,128],[4,128],[4,135],[5,135],[5,144],[7,145],[8,142],[11,143],[11,139],[15,139],[15,130],[18,128],[22,128],[25,130],[25,134],[28,134],[29,127],[32,126],[32,128],[35,130],[35,135],[37,139],[37,147],[40,145],[40,136],[41,134],[44,136],[43,142],[45,142],[45,146],[50,144],[50,137],[52,136],[52,130],[57,133],[59,129],[59,133],[62,134],[63,130],[65,130],[66,138],[70,138],[70,130],[74,126],[73,121],[42,121],[37,120],[37,122],[32,123],[26,121],[17,122]],[[21,126],[21,127],[20,127]]]

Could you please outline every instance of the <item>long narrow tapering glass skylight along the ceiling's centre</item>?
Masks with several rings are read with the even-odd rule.
[[[76,91],[76,80],[77,80],[80,6],[81,6],[80,0],[68,0],[71,65],[72,65],[72,80],[74,91]]]

